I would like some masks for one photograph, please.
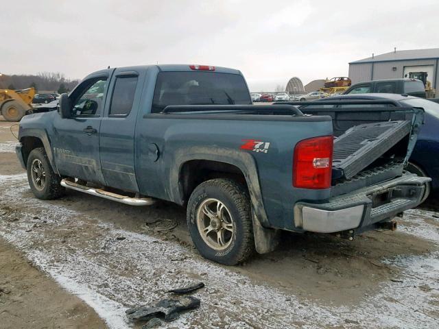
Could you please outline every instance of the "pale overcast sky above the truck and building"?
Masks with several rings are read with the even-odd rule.
[[[290,77],[348,74],[348,62],[439,47],[439,1],[10,1],[0,10],[0,72],[211,64],[252,90]]]

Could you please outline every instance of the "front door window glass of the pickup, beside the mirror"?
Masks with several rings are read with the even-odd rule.
[[[73,115],[76,117],[98,116],[104,106],[102,99],[104,98],[106,83],[106,77],[98,77],[84,82],[82,93],[80,90],[80,94],[74,97]]]

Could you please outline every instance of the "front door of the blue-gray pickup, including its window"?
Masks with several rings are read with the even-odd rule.
[[[54,158],[60,175],[105,184],[99,159],[99,130],[108,76],[91,77],[69,95],[73,117],[54,120]]]

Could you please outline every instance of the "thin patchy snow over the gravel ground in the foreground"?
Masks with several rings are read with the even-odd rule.
[[[383,265],[403,269],[403,282],[384,283],[377,295],[365,296],[359,304],[323,306],[254,284],[233,267],[208,262],[189,247],[115,228],[60,202],[34,199],[23,174],[0,175],[0,186],[3,204],[21,200],[22,208],[25,206],[18,221],[8,220],[16,216],[14,209],[0,212],[0,235],[93,307],[110,328],[132,326],[124,315],[129,306],[153,302],[166,297],[167,289],[194,281],[206,284],[196,293],[202,300],[200,309],[183,314],[169,326],[438,328],[438,252],[383,260]],[[418,229],[407,232],[437,244],[438,229],[419,219],[421,212],[411,210],[408,223]],[[67,242],[63,236],[69,236]],[[121,236],[126,239],[118,241]],[[420,286],[425,289],[420,291]]]

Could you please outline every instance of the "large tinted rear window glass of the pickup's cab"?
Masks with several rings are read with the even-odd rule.
[[[152,112],[168,105],[250,105],[244,77],[213,72],[158,73]]]

